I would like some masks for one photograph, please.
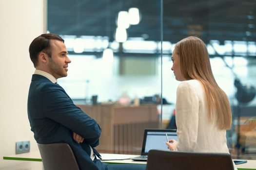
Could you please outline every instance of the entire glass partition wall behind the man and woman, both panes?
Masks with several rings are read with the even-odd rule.
[[[48,31],[64,38],[72,60],[58,82],[101,126],[99,152],[138,154],[144,129],[176,128],[179,82],[171,55],[179,40],[194,35],[205,42],[217,83],[230,99],[230,152],[255,159],[255,123],[244,124],[256,116],[254,2],[48,0],[47,8]],[[251,100],[237,100],[235,80]]]

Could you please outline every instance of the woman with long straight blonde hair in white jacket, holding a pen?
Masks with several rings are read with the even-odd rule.
[[[228,97],[217,85],[203,41],[189,36],[179,41],[172,55],[177,88],[176,124],[179,141],[169,140],[174,151],[229,153],[226,130],[232,124]]]

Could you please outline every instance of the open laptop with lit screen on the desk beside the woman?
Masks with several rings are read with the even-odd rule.
[[[131,158],[134,161],[147,161],[149,150],[163,150],[170,151],[165,144],[166,134],[168,139],[175,139],[178,141],[176,129],[145,129],[141,155]]]

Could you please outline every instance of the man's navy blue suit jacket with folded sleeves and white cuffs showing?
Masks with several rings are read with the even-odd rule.
[[[90,158],[89,145],[96,147],[99,144],[101,129],[72,102],[60,85],[33,74],[28,94],[28,118],[38,143],[68,143],[81,170],[98,170]],[[77,143],[73,132],[82,136],[84,141]],[[98,153],[95,149],[94,152]]]

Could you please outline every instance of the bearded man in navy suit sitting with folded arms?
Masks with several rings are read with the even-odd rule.
[[[145,170],[145,165],[106,164],[97,159],[98,123],[57,84],[57,79],[67,76],[71,63],[64,40],[56,34],[41,34],[30,44],[29,53],[36,71],[29,88],[28,118],[36,141],[68,143],[81,170]]]

